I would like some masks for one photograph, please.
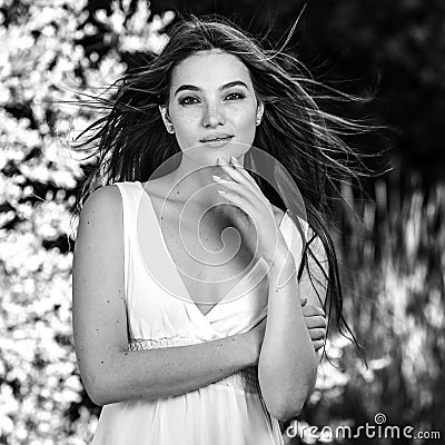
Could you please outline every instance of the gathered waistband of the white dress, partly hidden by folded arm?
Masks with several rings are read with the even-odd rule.
[[[199,342],[197,342],[196,339],[188,337],[131,338],[128,343],[128,350],[196,345]],[[236,389],[241,389],[246,393],[259,394],[260,390],[258,382],[258,367],[248,366],[238,370],[237,373],[230,374],[229,376],[221,378],[220,380],[214,382],[210,385],[234,387]]]

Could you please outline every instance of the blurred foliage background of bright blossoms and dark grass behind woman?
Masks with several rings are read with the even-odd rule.
[[[346,319],[369,368],[333,335],[335,366],[323,363],[298,421],[355,431],[383,413],[384,425],[442,441],[314,441],[285,434],[288,421],[285,443],[444,441],[444,2],[0,0],[0,444],[86,444],[100,414],[76,365],[70,275],[70,207],[93,159],[69,141],[97,116],[67,101],[102,93],[156,52],[177,12],[217,12],[278,44],[303,9],[291,51],[318,80],[374,91],[340,111],[395,131],[357,142],[389,147],[393,170],[367,179],[366,197],[344,184],[334,209]]]

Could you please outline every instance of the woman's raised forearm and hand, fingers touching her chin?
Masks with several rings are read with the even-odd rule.
[[[286,246],[288,241],[280,230],[278,238],[274,236],[270,216],[273,212],[277,218],[276,214],[260,187],[239,161],[231,157],[230,164],[222,159],[218,159],[218,162],[226,175],[224,179],[214,176],[215,181],[224,187],[218,192],[249,216],[248,221],[241,224],[241,233],[255,256],[265,259],[269,266],[267,324],[258,362],[258,378],[270,414],[286,419],[301,411],[314,389],[318,366],[315,345],[301,309],[293,257],[295,248]],[[275,224],[279,227],[279,224]],[[293,231],[297,235],[295,239],[299,240],[298,249],[303,248],[299,231],[295,227]],[[257,235],[254,243],[249,237],[251,233]],[[293,278],[279,280],[287,277]],[[286,284],[278,286],[281,283]]]

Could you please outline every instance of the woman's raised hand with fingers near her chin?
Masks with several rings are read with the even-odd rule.
[[[263,257],[269,266],[277,259],[285,260],[290,254],[275,220],[269,200],[235,157],[230,159],[231,162],[227,164],[219,158],[218,164],[231,180],[221,179],[215,175],[214,179],[225,187],[221,196],[249,217],[248,222],[240,227],[240,230],[245,231],[241,235],[245,235],[244,239],[248,248],[254,251],[257,259]],[[257,234],[257,244],[251,234]]]

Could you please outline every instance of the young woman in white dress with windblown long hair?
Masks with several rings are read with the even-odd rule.
[[[283,443],[278,419],[315,386],[326,307],[343,319],[325,182],[354,171],[330,157],[350,149],[329,123],[360,128],[320,111],[315,85],[290,56],[196,17],[121,80],[87,141],[99,162],[72,271],[78,365],[103,405],[93,445]],[[256,149],[307,221],[286,208],[296,190],[254,171]]]

